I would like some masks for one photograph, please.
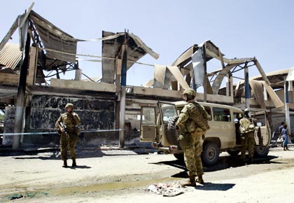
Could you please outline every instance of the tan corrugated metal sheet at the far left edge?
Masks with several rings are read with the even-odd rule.
[[[20,45],[6,43],[3,49],[0,50],[0,64],[5,65],[11,69],[15,69],[22,59],[22,52],[20,51]]]

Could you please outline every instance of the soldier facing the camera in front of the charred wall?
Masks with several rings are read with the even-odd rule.
[[[57,127],[58,134],[60,135],[61,157],[64,162],[62,167],[67,167],[66,160],[68,146],[71,159],[73,160],[72,167],[76,167],[75,147],[78,141],[78,134],[80,134],[80,130],[76,125],[80,125],[80,118],[78,117],[78,114],[73,112],[73,104],[66,104],[65,109],[66,113],[62,113],[55,123],[55,127]],[[66,127],[66,132],[64,132],[64,128],[62,128],[60,122]]]

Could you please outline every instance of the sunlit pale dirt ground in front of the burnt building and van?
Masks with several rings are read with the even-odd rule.
[[[62,168],[59,151],[38,151],[0,156],[0,202],[294,201],[293,146],[270,148],[253,165],[221,153],[218,165],[204,167],[203,186],[177,188],[181,194],[174,197],[148,190],[186,180],[186,167],[173,155],[150,148],[78,147],[78,167]]]

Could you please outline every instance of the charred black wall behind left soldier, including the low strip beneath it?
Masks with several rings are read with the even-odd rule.
[[[24,144],[59,144],[56,133],[41,134],[40,132],[55,132],[55,122],[65,112],[65,105],[72,103],[74,111],[81,120],[82,131],[114,130],[115,102],[111,99],[97,99],[95,97],[59,97],[52,95],[34,95],[27,107],[29,113],[26,120],[25,132],[38,134],[23,137]],[[82,132],[80,143],[113,143],[118,139],[117,132]],[[101,143],[102,142],[102,143]]]

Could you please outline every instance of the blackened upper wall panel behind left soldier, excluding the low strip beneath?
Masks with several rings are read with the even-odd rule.
[[[80,116],[83,130],[115,128],[115,102],[112,100],[78,97],[34,95],[31,99],[31,130],[54,130],[55,122],[65,112],[65,105],[72,103]]]

